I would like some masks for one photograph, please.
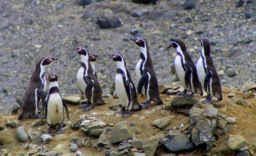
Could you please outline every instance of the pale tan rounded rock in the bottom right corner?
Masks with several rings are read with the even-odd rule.
[[[240,147],[245,145],[246,140],[242,137],[242,135],[230,135],[230,138],[228,139],[228,147],[231,150],[238,150]]]

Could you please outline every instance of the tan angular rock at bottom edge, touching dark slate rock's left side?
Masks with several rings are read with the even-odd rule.
[[[146,156],[153,156],[156,152],[156,147],[159,145],[159,140],[164,138],[164,135],[154,135],[149,137],[142,145],[142,149],[146,153]]]

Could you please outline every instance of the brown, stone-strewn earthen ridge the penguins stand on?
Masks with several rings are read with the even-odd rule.
[[[78,96],[66,96],[70,120],[62,135],[49,137],[45,121],[18,114],[0,117],[0,155],[255,155],[256,84],[223,88],[223,101],[176,96],[178,83],[161,85],[164,105],[152,104],[129,118],[114,113],[118,99],[85,112]],[[139,96],[139,102],[144,97]]]

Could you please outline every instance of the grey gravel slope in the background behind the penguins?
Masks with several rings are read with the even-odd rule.
[[[149,1],[150,2],[150,1]],[[107,55],[121,52],[134,77],[139,57],[137,45],[129,38],[142,35],[149,42],[159,84],[176,78],[171,72],[174,50],[166,47],[171,38],[181,38],[196,61],[198,38],[212,44],[215,66],[223,86],[240,87],[255,81],[255,1],[198,0],[184,4],[161,0],[149,4],[126,1],[2,0],[0,1],[0,114],[11,112],[24,90],[39,58],[59,57],[46,69],[56,72],[63,95],[78,93],[75,74],[80,57],[78,45],[97,52],[98,79],[107,94],[115,67]],[[82,6],[83,5],[83,6]]]

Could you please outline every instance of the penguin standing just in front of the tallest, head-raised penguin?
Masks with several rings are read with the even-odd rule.
[[[114,84],[117,91],[117,96],[122,104],[122,110],[117,113],[122,114],[124,118],[131,116],[132,108],[140,110],[142,106],[137,100],[137,93],[134,83],[130,77],[129,71],[126,67],[124,57],[119,53],[108,55],[117,65],[117,74],[114,78]]]

